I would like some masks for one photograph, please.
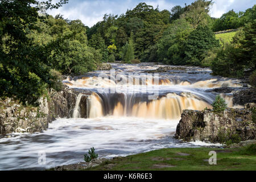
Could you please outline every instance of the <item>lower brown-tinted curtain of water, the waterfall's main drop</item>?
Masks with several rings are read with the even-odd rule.
[[[89,118],[139,117],[179,119],[184,109],[203,110],[212,106],[203,98],[191,93],[168,93],[157,100],[147,100],[144,94],[97,94],[90,96]]]

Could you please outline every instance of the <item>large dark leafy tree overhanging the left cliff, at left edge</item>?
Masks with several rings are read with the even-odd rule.
[[[13,97],[22,104],[36,105],[36,101],[52,84],[47,61],[48,52],[35,46],[28,38],[36,29],[41,5],[47,9],[60,7],[66,0],[53,4],[35,0],[0,2],[0,97]],[[39,6],[40,5],[40,6]]]

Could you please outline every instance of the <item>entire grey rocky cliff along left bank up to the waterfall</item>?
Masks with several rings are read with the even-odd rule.
[[[0,135],[12,132],[40,132],[55,118],[71,118],[77,92],[65,87],[61,92],[49,90],[48,98],[40,98],[38,107],[23,106],[11,98],[0,100]],[[86,98],[82,96],[81,117],[86,118]]]

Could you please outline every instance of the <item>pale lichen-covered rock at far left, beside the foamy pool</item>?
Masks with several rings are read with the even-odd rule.
[[[7,98],[1,101],[0,111],[0,134],[12,132],[35,132],[42,131],[52,121],[47,98],[39,100],[39,107],[20,105],[18,102]]]

